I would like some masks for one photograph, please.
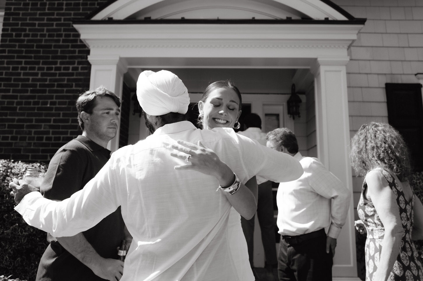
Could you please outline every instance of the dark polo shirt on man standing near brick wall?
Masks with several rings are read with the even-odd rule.
[[[110,158],[110,150],[79,135],[53,156],[41,184],[48,199],[64,200],[82,189]],[[124,239],[124,222],[119,207],[95,227],[83,232],[93,248],[104,258],[117,258],[117,247]],[[54,237],[47,234],[49,246],[41,257],[37,281],[104,280],[69,254]]]

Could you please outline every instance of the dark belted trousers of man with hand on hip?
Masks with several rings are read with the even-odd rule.
[[[324,229],[285,239],[281,236],[277,262],[280,281],[332,280],[332,252],[326,253]]]

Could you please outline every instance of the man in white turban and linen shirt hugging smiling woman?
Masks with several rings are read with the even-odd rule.
[[[141,73],[137,97],[152,135],[113,153],[84,189],[61,202],[14,179],[16,211],[60,237],[121,206],[133,236],[121,280],[253,281],[252,272],[240,280],[239,261],[229,251],[231,205],[252,217],[256,202],[242,183],[255,175],[292,181],[302,175],[301,165],[230,128],[196,129],[185,120],[187,89],[173,73]]]

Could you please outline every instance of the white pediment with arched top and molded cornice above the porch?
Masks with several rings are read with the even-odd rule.
[[[348,58],[363,25],[321,0],[116,0],[74,22],[91,64],[126,68],[310,68],[317,58]]]

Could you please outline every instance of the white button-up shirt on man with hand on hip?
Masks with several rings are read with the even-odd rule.
[[[281,235],[301,235],[329,227],[327,235],[338,238],[345,224],[351,193],[313,157],[294,155],[304,174],[280,183],[277,189],[277,227]]]

